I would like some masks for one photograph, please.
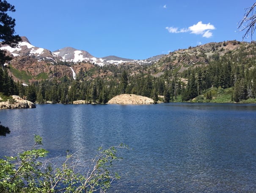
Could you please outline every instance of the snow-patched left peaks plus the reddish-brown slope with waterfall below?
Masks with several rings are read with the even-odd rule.
[[[33,81],[43,79],[61,79],[68,77],[75,79],[80,70],[86,69],[89,71],[92,68],[105,65],[151,65],[159,60],[163,55],[154,56],[147,60],[132,60],[117,56],[107,56],[96,58],[90,53],[77,50],[72,47],[51,52],[50,50],[33,46],[28,38],[22,37],[22,41],[12,48],[8,45],[0,44],[0,49],[5,50],[6,54],[13,59],[7,64],[9,75],[15,81],[20,81],[29,84]],[[72,65],[72,66],[71,66]],[[97,72],[94,76],[107,76],[102,72]]]

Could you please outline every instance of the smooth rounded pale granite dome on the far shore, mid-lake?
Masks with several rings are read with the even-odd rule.
[[[154,100],[139,95],[123,94],[117,95],[108,101],[108,104],[153,104]]]

